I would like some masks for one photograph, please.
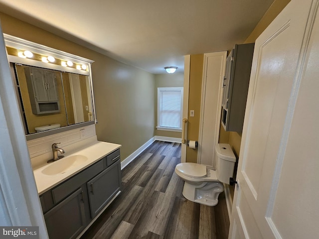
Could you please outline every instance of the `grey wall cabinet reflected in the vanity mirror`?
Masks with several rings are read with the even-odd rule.
[[[60,112],[54,72],[35,67],[24,68],[32,113],[35,115]]]

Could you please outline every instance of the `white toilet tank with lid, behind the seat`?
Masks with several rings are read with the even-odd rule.
[[[236,156],[227,143],[218,143],[215,146],[216,177],[220,182],[229,184],[233,177]]]

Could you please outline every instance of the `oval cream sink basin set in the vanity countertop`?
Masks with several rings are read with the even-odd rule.
[[[80,166],[88,158],[83,155],[71,155],[53,162],[41,172],[45,175],[57,175],[67,172],[68,170]]]

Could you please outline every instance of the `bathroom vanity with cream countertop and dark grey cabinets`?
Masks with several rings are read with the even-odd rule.
[[[34,170],[50,239],[78,237],[120,193],[120,146],[98,141]]]

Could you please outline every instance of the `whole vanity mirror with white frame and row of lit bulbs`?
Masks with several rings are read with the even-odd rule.
[[[26,139],[97,123],[92,60],[3,34]]]

